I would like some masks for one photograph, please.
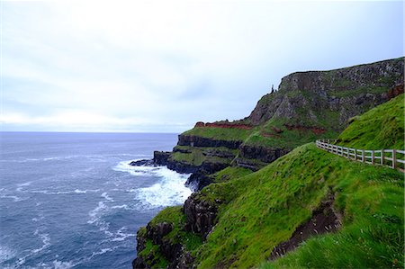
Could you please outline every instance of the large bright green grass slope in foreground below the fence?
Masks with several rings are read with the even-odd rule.
[[[223,203],[218,224],[195,251],[198,267],[260,265],[311,218],[329,192],[336,195],[335,206],[344,214],[344,228],[312,238],[296,251],[301,256],[293,252],[264,266],[392,267],[395,259],[402,261],[403,175],[350,162],[308,144],[257,173],[202,190],[199,199]],[[364,247],[358,247],[359,242]],[[356,252],[351,253],[353,248]]]

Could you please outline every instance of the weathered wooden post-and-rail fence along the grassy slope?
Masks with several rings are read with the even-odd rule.
[[[320,139],[316,141],[318,148],[328,150],[330,153],[341,157],[346,157],[351,160],[360,161],[373,166],[389,166],[392,169],[399,169],[402,173],[405,172],[405,150],[400,149],[358,149],[346,148],[334,145],[334,139]]]

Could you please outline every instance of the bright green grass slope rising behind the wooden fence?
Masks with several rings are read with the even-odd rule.
[[[353,119],[337,143],[350,148],[404,148],[404,94]]]

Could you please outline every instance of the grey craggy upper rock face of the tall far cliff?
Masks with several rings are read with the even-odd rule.
[[[284,76],[277,92],[262,97],[247,120],[259,125],[288,118],[298,125],[329,127],[324,121],[336,114],[338,121],[330,127],[343,130],[349,118],[389,99],[389,89],[403,84],[403,69],[403,58],[398,58],[331,71],[293,73]]]

